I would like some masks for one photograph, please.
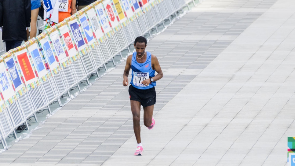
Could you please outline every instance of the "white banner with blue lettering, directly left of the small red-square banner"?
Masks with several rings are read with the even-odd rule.
[[[63,66],[66,66],[67,55],[65,53],[64,47],[62,46],[62,43],[60,41],[60,35],[57,30],[51,32],[49,34],[49,41],[51,41],[53,46],[53,51],[56,54],[57,60],[60,64],[63,64]]]

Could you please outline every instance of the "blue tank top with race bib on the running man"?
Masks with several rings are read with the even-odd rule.
[[[137,89],[150,89],[156,86],[156,82],[151,82],[145,86],[141,82],[155,76],[155,70],[151,67],[151,53],[147,52],[147,60],[144,63],[136,61],[136,52],[132,55],[131,61],[132,78],[130,84]]]

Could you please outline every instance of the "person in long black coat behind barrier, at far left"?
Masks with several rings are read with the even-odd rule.
[[[31,22],[31,1],[0,0],[0,6],[2,40],[5,41],[6,51],[9,51],[27,40],[26,27],[30,27]]]

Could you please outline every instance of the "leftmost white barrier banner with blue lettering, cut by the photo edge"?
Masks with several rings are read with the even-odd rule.
[[[0,93],[3,99],[5,101],[8,101],[10,104],[15,100],[13,98],[13,96],[15,95],[13,84],[7,73],[4,62],[0,63]]]

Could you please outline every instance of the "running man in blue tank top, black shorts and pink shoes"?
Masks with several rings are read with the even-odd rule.
[[[142,155],[140,140],[140,105],[144,108],[144,126],[152,129],[155,126],[153,117],[154,104],[156,103],[156,81],[163,77],[159,61],[155,55],[146,52],[147,39],[139,36],[134,41],[136,52],[129,56],[123,73],[123,85],[128,85],[128,75],[132,69],[131,86],[129,86],[129,98],[133,115],[133,130],[137,141],[137,149],[134,155]],[[155,76],[155,72],[158,74]]]

